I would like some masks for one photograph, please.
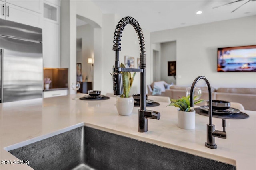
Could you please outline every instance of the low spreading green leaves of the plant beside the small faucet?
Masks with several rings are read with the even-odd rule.
[[[201,103],[203,102],[204,100],[203,99],[200,99],[198,101],[195,101],[195,99],[197,98],[198,96],[195,96],[194,97],[194,104],[198,104],[198,103]],[[180,109],[180,111],[191,111],[190,109],[190,96],[187,96],[187,97],[182,97],[180,99],[171,99],[171,103],[167,106],[175,106],[175,107],[178,107]]]

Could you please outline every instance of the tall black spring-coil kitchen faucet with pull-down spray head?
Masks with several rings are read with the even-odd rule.
[[[119,51],[121,51],[121,37],[122,31],[127,24],[131,24],[138,35],[140,42],[140,68],[121,68],[119,63]],[[148,118],[160,119],[160,113],[157,111],[146,110],[146,55],[144,54],[144,37],[138,21],[134,18],[127,16],[122,18],[116,25],[116,31],[114,32],[114,45],[113,50],[116,51],[115,65],[113,68],[113,90],[114,95],[122,95],[123,83],[121,72],[140,72],[140,109],[138,110],[138,131],[148,131]]]

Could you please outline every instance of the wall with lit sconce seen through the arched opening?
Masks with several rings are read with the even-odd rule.
[[[94,28],[89,24],[82,25],[76,29],[76,37],[82,38],[82,56],[77,58],[77,63],[82,63],[82,79],[88,82],[93,81],[93,67],[88,64],[88,58],[94,58]]]

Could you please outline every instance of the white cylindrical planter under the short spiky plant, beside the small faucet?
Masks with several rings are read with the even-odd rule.
[[[195,129],[196,111],[180,111],[178,109],[178,127],[182,129]]]

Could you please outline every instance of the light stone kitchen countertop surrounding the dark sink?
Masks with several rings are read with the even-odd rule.
[[[84,94],[77,94],[82,97]],[[159,111],[160,120],[148,119],[148,132],[138,132],[138,109],[129,116],[116,111],[115,98],[88,101],[72,100],[74,95],[6,102],[0,104],[0,160],[19,160],[4,148],[60,129],[84,123],[111,133],[188,152],[236,165],[238,170],[256,170],[256,111],[243,111],[247,119],[226,119],[227,139],[215,138],[217,149],[204,146],[208,117],[196,114],[196,128],[177,127],[177,108],[148,107]],[[222,119],[213,118],[215,129],[222,130]],[[26,164],[0,164],[1,170],[30,170]]]

